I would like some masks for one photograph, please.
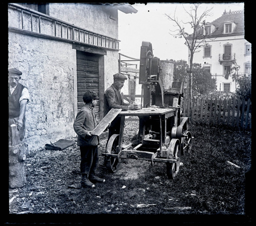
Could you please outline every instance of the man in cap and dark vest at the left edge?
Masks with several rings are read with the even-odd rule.
[[[12,126],[17,126],[19,131],[19,141],[21,142],[25,136],[25,112],[26,104],[29,102],[29,92],[26,87],[19,83],[20,72],[16,68],[8,70],[9,75],[9,141],[12,140],[14,129]],[[15,134],[17,136],[17,134]],[[15,145],[15,144],[11,144]]]

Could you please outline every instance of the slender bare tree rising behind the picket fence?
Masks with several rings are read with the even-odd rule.
[[[183,5],[182,5],[183,6]],[[208,34],[208,32],[204,32],[204,25],[205,25],[205,16],[212,16],[213,14],[211,13],[213,8],[207,9],[205,8],[204,12],[199,14],[198,13],[198,8],[200,6],[200,3],[193,3],[193,5],[190,8],[190,11],[187,11],[184,6],[184,11],[188,14],[190,17],[190,21],[188,22],[183,22],[182,20],[178,19],[178,16],[176,15],[176,9],[174,11],[173,16],[168,16],[168,19],[174,22],[174,26],[177,27],[175,31],[171,31],[170,33],[172,36],[175,38],[184,38],[186,42],[184,43],[186,46],[188,46],[189,51],[190,51],[190,59],[189,59],[189,77],[187,74],[187,97],[188,97],[188,90],[190,94],[190,98],[192,98],[192,67],[193,67],[193,56],[194,53],[199,52],[200,48],[203,46],[207,45],[206,39],[210,39],[211,35],[217,31],[217,27],[215,30]],[[188,32],[185,31],[184,25],[185,24],[190,24],[192,28],[192,32],[189,34]],[[189,85],[189,80],[190,80],[190,85]],[[192,102],[191,102],[192,103]]]

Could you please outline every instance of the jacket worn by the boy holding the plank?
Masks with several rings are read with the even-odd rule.
[[[86,135],[87,131],[92,131],[96,126],[97,121],[93,108],[87,105],[83,106],[77,113],[77,117],[73,125],[74,130],[78,135],[78,146],[96,146],[99,144],[98,136],[92,135],[92,137],[89,137]]]

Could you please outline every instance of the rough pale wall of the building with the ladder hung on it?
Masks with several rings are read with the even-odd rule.
[[[86,4],[68,4],[60,4],[61,8],[58,8],[59,4],[50,4],[50,16],[118,38],[117,20],[106,19],[105,12],[86,8]],[[29,31],[28,22],[25,16],[25,30]],[[21,28],[20,23],[17,12],[9,9],[9,26]],[[33,26],[34,32],[38,32],[35,24],[36,19]],[[42,29],[46,29],[46,26]],[[48,35],[51,33],[52,27],[47,31]],[[72,48],[72,43],[9,31],[8,50],[8,67],[15,67],[23,73],[20,83],[30,93],[24,138],[28,147],[38,149],[47,143],[76,136],[73,123],[77,111],[74,101],[77,94],[74,90],[77,87],[77,67],[76,50]],[[104,56],[104,89],[111,85],[113,74],[117,72],[118,51],[107,50]]]

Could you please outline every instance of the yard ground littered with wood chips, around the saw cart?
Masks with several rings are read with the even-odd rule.
[[[137,124],[136,121],[126,122],[125,144],[136,134]],[[108,131],[100,136],[97,170],[106,182],[97,184],[94,189],[81,188],[80,150],[77,145],[62,151],[45,148],[31,151],[25,162],[26,186],[9,189],[11,219],[22,216],[26,222],[30,214],[43,220],[49,214],[54,217],[80,214],[81,218],[84,214],[103,214],[111,218],[113,214],[154,217],[161,213],[161,218],[165,216],[168,219],[172,219],[170,214],[178,214],[177,219],[182,222],[193,214],[199,218],[196,220],[201,221],[204,218],[202,214],[205,214],[214,221],[216,218],[212,213],[224,213],[227,218],[230,217],[227,214],[235,213],[232,220],[243,221],[246,217],[244,173],[250,167],[250,135],[200,126],[192,126],[191,130],[195,137],[192,147],[195,152],[182,157],[184,165],[180,167],[175,181],[167,179],[165,164],[152,167],[150,161],[125,160],[118,164],[114,174],[109,173],[102,155]],[[77,141],[77,137],[69,139]],[[243,167],[230,166],[225,159]],[[35,220],[36,216],[33,216]],[[62,216],[59,218],[62,220]],[[68,222],[69,218],[65,220]]]

